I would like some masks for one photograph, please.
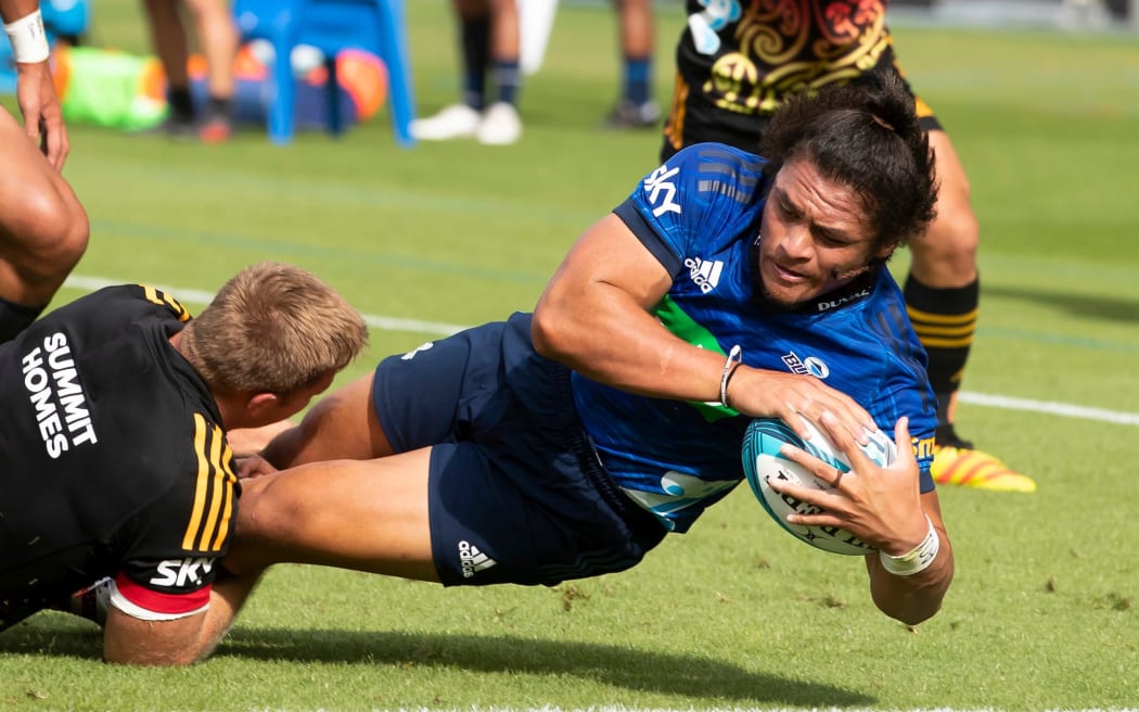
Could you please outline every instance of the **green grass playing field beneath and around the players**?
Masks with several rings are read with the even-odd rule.
[[[456,96],[453,26],[442,2],[408,11],[429,113]],[[92,40],[145,51],[138,13],[100,0]],[[661,7],[662,98],[681,24]],[[895,30],[983,230],[959,423],[1040,485],[941,490],[958,573],[937,616],[886,619],[860,562],[795,542],[741,488],[633,571],[555,589],[278,567],[192,669],[106,666],[92,627],[40,614],[0,637],[0,710],[1139,707],[1139,44]],[[604,6],[560,10],[508,148],[400,149],[386,112],[289,148],[256,129],[203,147],[72,125],[66,175],[92,239],[59,298],[147,281],[200,309],[249,262],[295,262],[372,317],[344,378],[449,325],[528,309],[572,240],[655,167],[654,133],[599,128],[614,32]]]

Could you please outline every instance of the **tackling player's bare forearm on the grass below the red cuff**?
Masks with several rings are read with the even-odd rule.
[[[188,665],[208,656],[224,637],[237,612],[256,584],[257,575],[218,575],[208,604],[191,615],[171,620],[112,603],[104,630],[104,658],[132,665]],[[114,600],[114,599],[113,599]]]

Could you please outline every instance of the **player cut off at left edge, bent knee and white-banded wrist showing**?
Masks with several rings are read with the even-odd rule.
[[[47,308],[83,256],[87,212],[60,174],[69,145],[36,0],[0,0],[23,128],[0,107],[0,342]]]

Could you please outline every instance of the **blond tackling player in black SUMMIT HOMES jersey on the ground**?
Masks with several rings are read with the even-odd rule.
[[[0,345],[0,629],[106,578],[104,654],[207,654],[252,589],[227,576],[240,488],[226,429],[287,418],[367,343],[294,267],[240,272],[197,319],[140,285]]]

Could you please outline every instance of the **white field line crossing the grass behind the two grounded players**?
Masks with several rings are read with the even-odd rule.
[[[120,280],[107,279],[105,277],[83,277],[72,275],[64,284],[72,289],[93,292],[110,285],[122,284]],[[213,294],[202,289],[186,289],[182,287],[166,287],[151,285],[177,296],[179,300],[191,304],[208,304],[213,300]],[[449,336],[466,328],[458,324],[445,324],[440,321],[423,321],[419,319],[402,319],[400,317],[386,317],[383,314],[364,314],[368,326],[388,332],[407,332],[409,334],[425,334],[429,336]],[[960,401],[973,406],[986,408],[1000,408],[1003,410],[1025,410],[1029,412],[1042,412],[1065,418],[1083,418],[1087,420],[1099,420],[1101,423],[1114,423],[1117,425],[1139,426],[1139,412],[1122,412],[1116,410],[1105,410],[1103,408],[1089,408],[1072,403],[1057,403],[1051,401],[1034,401],[1024,398],[1011,398],[1008,395],[991,395],[985,393],[972,393],[961,391]]]

